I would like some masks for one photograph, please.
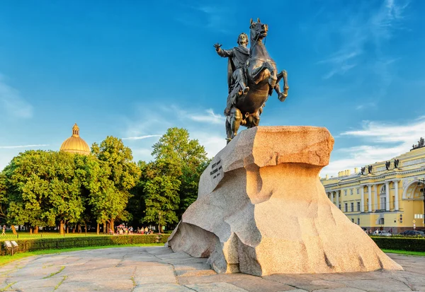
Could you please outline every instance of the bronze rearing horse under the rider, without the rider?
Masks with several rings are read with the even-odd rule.
[[[236,100],[226,118],[227,143],[237,135],[241,125],[252,128],[259,125],[260,115],[263,111],[268,95],[273,90],[278,94],[280,101],[288,96],[288,81],[285,70],[278,73],[276,63],[271,59],[263,44],[263,38],[267,36],[268,25],[252,21],[249,27],[251,48],[249,59],[246,62],[245,74],[249,91],[243,93]],[[283,79],[283,92],[280,91],[279,81]]]

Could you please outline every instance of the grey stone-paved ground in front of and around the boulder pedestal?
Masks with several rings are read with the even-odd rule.
[[[28,257],[0,267],[1,291],[425,291],[425,257],[390,255],[404,271],[217,274],[207,259],[166,247],[114,247]],[[56,273],[56,274],[55,274]]]

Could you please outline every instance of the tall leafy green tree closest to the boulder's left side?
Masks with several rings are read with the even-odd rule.
[[[145,221],[176,223],[198,196],[199,178],[209,162],[207,153],[186,129],[176,127],[168,129],[152,148],[155,160],[145,169]]]

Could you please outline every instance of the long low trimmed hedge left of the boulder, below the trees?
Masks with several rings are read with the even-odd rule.
[[[81,236],[69,238],[35,238],[17,239],[18,250],[15,252],[30,252],[34,250],[54,250],[70,247],[132,245],[140,243],[166,243],[169,234],[152,235],[105,235]],[[8,253],[4,242],[1,243],[1,255]]]

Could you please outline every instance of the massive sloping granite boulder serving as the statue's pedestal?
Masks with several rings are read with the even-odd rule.
[[[200,177],[169,247],[220,273],[402,269],[327,198],[318,175],[333,145],[318,127],[241,132]]]

